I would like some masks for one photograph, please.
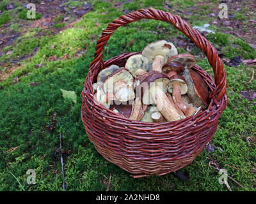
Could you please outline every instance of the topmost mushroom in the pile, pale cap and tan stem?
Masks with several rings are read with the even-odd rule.
[[[162,66],[173,55],[177,55],[177,48],[165,40],[158,40],[148,44],[143,48],[142,55],[148,58],[148,62],[152,63],[152,71],[162,71]]]

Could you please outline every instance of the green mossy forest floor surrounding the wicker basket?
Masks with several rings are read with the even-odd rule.
[[[228,191],[216,170],[227,170],[232,191],[256,189],[256,1],[27,1],[0,2],[0,190],[62,191],[60,133],[67,191]],[[219,5],[228,18],[220,19]],[[140,8],[179,15],[216,48],[227,75],[228,105],[212,141],[176,173],[132,179],[88,140],[81,121],[81,91],[102,29]],[[196,56],[213,77],[205,54],[172,25],[140,20],[118,28],[103,60],[138,52],[156,40]],[[61,89],[74,91],[64,99]],[[29,169],[36,184],[27,183]],[[111,182],[109,184],[109,177]]]

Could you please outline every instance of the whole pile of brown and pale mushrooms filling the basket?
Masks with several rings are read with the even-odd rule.
[[[95,99],[123,117],[143,122],[167,122],[196,115],[208,106],[209,91],[191,69],[196,58],[178,54],[165,40],[132,55],[124,67],[102,69],[93,84]]]

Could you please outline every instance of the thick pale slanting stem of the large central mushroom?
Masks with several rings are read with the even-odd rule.
[[[180,114],[175,110],[168,97],[164,94],[161,88],[157,85],[150,87],[150,95],[167,121],[180,120]]]

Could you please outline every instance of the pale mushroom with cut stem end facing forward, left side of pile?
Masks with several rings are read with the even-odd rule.
[[[114,92],[118,101],[129,101],[135,98],[133,82],[132,73],[128,69],[120,68],[103,80],[102,89],[105,93]]]

